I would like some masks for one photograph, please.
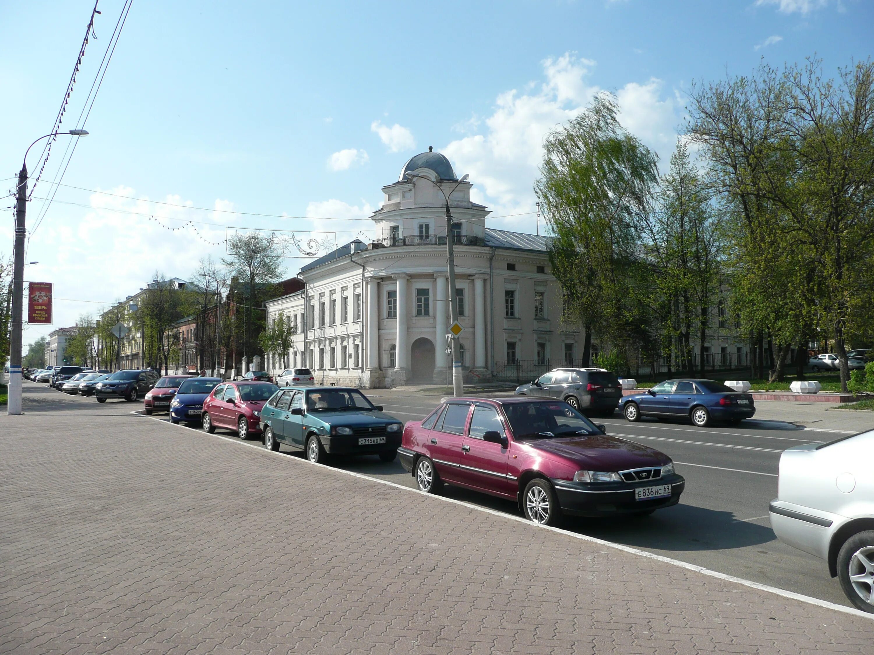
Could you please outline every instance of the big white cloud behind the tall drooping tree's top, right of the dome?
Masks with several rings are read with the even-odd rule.
[[[535,210],[533,185],[543,161],[546,134],[579,114],[601,90],[588,82],[595,66],[590,59],[565,53],[558,59],[546,59],[543,66],[545,79],[539,85],[531,86],[527,93],[501,93],[478,134],[452,141],[442,149],[456,175],[470,175],[475,184],[472,199],[492,210],[498,218],[489,224],[496,227],[535,231],[533,214],[500,217]],[[675,95],[662,97],[662,80],[655,78],[629,82],[615,94],[622,125],[654,148],[662,163],[667,162],[676,144],[681,106]]]

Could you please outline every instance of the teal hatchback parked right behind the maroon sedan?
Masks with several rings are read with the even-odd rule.
[[[301,448],[311,462],[326,455],[379,455],[384,462],[398,456],[404,424],[385,414],[357,389],[286,387],[265,403],[260,427],[264,445]]]

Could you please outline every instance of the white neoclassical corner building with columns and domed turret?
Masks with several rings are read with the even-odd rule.
[[[406,175],[411,172],[416,177]],[[316,383],[371,389],[447,381],[444,193],[452,193],[451,295],[464,327],[468,381],[489,380],[520,362],[545,367],[576,359],[582,334],[563,330],[547,239],[487,228],[489,210],[471,202],[471,187],[431,148],[406,162],[398,181],[383,187],[385,202],[371,216],[381,236],[304,265],[304,290],[267,302],[268,321],[282,312],[295,325],[289,364],[313,369]],[[269,369],[282,369],[278,358],[268,359]]]

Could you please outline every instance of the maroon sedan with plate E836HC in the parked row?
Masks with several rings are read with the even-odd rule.
[[[516,500],[546,525],[562,514],[651,514],[676,505],[685,486],[664,453],[540,398],[451,398],[406,424],[398,455],[421,491],[465,486]]]

